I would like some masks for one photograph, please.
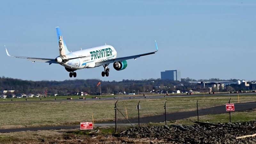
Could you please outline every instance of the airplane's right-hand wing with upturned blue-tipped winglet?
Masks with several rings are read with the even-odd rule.
[[[111,59],[111,60],[106,60],[106,61],[101,61],[101,62],[96,62],[95,63],[95,67],[104,65],[104,64],[109,64],[109,63],[113,63],[116,61],[123,61],[123,60],[130,60],[130,59],[136,59],[139,58],[141,56],[145,56],[145,55],[150,55],[150,54],[154,54],[158,51],[158,47],[157,47],[157,43],[155,41],[156,44],[156,51],[155,52],[148,52],[148,53],[143,53],[143,54],[138,54],[138,55],[132,55],[132,56],[127,56],[127,57],[121,57],[121,58],[116,58],[116,59]]]

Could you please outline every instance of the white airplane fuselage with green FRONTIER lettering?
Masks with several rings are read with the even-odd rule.
[[[61,62],[60,65],[70,69],[83,69],[83,68],[94,68],[95,63],[115,59],[117,52],[111,45],[103,45],[92,47],[84,50],[70,52],[66,55],[60,56],[63,59],[72,59],[67,62]]]

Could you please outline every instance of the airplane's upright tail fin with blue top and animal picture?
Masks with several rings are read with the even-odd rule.
[[[68,51],[67,45],[66,45],[62,35],[61,35],[59,27],[56,27],[56,32],[57,32],[57,40],[58,40],[58,44],[59,44],[60,56],[70,53]]]

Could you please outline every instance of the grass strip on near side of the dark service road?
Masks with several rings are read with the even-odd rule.
[[[253,121],[256,117],[256,109],[247,110],[243,112],[234,112],[231,114],[232,122],[244,122]],[[169,124],[182,124],[190,125],[194,124],[192,121],[196,121],[197,117],[190,117],[183,120],[167,123]],[[200,116],[201,122],[211,121],[212,123],[227,123],[229,122],[228,114],[207,115]],[[164,125],[164,123],[151,123],[147,125]],[[123,132],[130,127],[122,127],[118,129],[118,132]],[[71,130],[51,130],[51,131],[27,131],[27,132],[11,132],[0,133],[1,143],[101,143],[102,141],[111,141],[111,143],[120,143],[125,138],[112,137],[112,133],[115,132],[114,127],[96,127],[95,130],[100,130],[100,135],[97,138],[92,139],[88,136],[86,131],[79,131],[77,129]],[[134,139],[129,139],[129,143],[133,143]],[[143,139],[140,139],[143,142]],[[44,142],[42,142],[44,141]],[[145,141],[145,140],[144,140]],[[138,142],[134,142],[138,143]]]

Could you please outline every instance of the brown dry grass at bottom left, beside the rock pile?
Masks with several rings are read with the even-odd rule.
[[[148,142],[145,142],[147,141]],[[1,143],[6,144],[23,144],[23,143],[54,143],[54,144],[70,144],[70,143],[82,143],[82,144],[120,144],[120,143],[138,143],[146,144],[151,141],[150,139],[128,139],[123,137],[113,137],[111,134],[93,134],[87,135],[86,132],[77,130],[59,130],[59,131],[27,131],[27,132],[12,132],[12,133],[0,133]]]

